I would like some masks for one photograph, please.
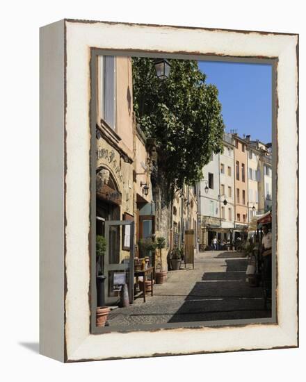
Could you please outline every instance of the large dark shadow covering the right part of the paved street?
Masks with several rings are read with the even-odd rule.
[[[225,260],[225,272],[205,272],[168,322],[271,317],[262,288],[245,283],[247,259]]]

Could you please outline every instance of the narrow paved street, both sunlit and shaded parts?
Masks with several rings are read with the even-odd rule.
[[[108,316],[109,326],[165,324],[220,319],[271,317],[264,310],[261,288],[245,283],[248,260],[236,251],[207,251],[195,255],[195,269],[184,263],[168,272],[162,285],[154,285],[154,296],[140,297],[128,308],[116,308]]]

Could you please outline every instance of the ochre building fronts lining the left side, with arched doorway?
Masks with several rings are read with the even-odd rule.
[[[195,191],[188,187],[170,204],[163,200],[156,144],[145,137],[134,117],[131,58],[99,56],[96,84],[95,225],[96,234],[108,238],[103,265],[106,304],[115,304],[119,298],[115,276],[122,269],[128,275],[134,256],[144,255],[141,240],[166,238],[162,256],[167,270],[170,249],[184,244],[186,229],[196,232],[198,205]],[[130,226],[120,225],[127,220],[134,222],[134,252],[129,244]],[[155,260],[151,251],[150,265]],[[132,285],[129,293],[133,293]]]

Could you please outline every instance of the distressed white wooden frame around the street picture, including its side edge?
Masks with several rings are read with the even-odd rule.
[[[90,333],[90,51],[276,64],[276,323]],[[40,31],[40,353],[62,362],[298,347],[298,35],[72,19]]]

